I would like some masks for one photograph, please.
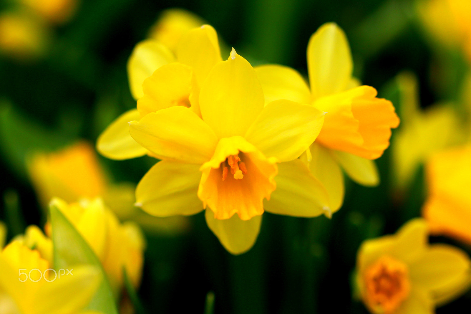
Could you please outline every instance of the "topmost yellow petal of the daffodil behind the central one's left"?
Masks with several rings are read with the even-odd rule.
[[[185,33],[177,46],[177,60],[193,68],[202,86],[212,67],[222,60],[214,28],[203,25]]]

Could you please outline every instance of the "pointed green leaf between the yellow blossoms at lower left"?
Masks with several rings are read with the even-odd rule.
[[[49,210],[55,268],[66,268],[73,264],[96,266],[103,275],[103,281],[86,309],[103,314],[118,314],[111,286],[98,257],[54,203],[49,206]]]

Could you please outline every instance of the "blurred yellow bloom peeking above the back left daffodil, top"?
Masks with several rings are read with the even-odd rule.
[[[151,27],[149,38],[159,41],[175,53],[180,38],[190,29],[203,24],[203,19],[196,14],[181,8],[171,8],[163,11]]]

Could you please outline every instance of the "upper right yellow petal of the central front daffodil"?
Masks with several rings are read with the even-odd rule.
[[[290,161],[298,158],[316,139],[324,115],[310,105],[275,100],[263,108],[245,139],[267,157]]]

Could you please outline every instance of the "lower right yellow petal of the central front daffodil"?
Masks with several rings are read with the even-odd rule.
[[[316,217],[329,210],[325,187],[299,159],[278,164],[276,190],[263,202],[267,212],[297,217]]]

